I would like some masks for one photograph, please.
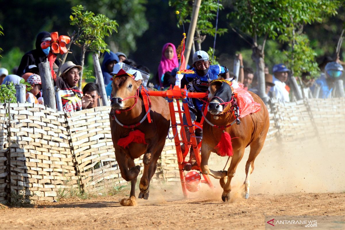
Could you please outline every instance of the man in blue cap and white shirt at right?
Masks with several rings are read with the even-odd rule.
[[[280,102],[290,102],[289,91],[285,82],[288,79],[290,70],[284,64],[276,64],[273,67],[273,83],[275,84],[270,91],[274,92],[275,98]]]

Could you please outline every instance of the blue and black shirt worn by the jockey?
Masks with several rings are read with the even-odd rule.
[[[194,73],[185,74],[181,80],[181,89],[185,86],[188,92],[205,93],[208,90],[209,82],[218,78],[219,74],[225,73],[223,66],[210,66],[208,72],[204,76],[199,76],[195,68],[191,69]],[[197,113],[203,107],[203,101],[197,98],[188,98],[188,106],[191,112]]]

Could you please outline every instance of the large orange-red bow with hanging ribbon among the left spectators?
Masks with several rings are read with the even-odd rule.
[[[71,38],[65,35],[61,35],[59,37],[58,32],[51,32],[50,33],[51,40],[50,41],[43,41],[41,43],[42,49],[47,49],[51,47],[49,54],[48,54],[48,61],[51,70],[51,76],[53,79],[56,78],[56,74],[53,70],[53,63],[56,60],[57,54],[65,54],[68,52],[66,45],[71,41]]]

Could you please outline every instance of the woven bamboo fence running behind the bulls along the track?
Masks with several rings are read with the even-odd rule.
[[[315,137],[331,142],[345,134],[345,98],[271,103],[268,110],[266,145]],[[109,111],[104,106],[65,114],[30,103],[0,104],[0,203],[11,193],[52,201],[71,189],[128,183],[115,159]],[[167,138],[153,181],[179,180],[174,146]],[[136,165],[143,169],[142,159]]]

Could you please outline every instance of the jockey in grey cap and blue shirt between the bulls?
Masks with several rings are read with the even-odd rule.
[[[228,79],[230,78],[228,69],[225,66],[219,65],[210,65],[210,59],[208,57],[207,52],[199,50],[194,53],[193,55],[193,68],[191,69],[195,73],[185,74],[181,80],[181,89],[185,86],[188,92],[207,92],[209,82],[212,80],[217,79],[219,76]],[[194,121],[200,122],[202,117],[201,108],[203,107],[203,101],[196,99],[196,98],[188,98],[188,107],[190,112],[190,117],[192,119],[192,123]],[[187,124],[187,119],[185,114],[183,115],[183,123]],[[189,129],[185,127],[187,140],[190,139]],[[199,143],[201,137],[203,136],[203,131],[200,129],[195,130],[195,136],[200,137],[197,138],[197,142]],[[182,151],[184,152],[185,147],[184,145],[181,146]],[[193,148],[190,149],[190,157],[189,162],[191,164],[195,164],[195,154]]]

